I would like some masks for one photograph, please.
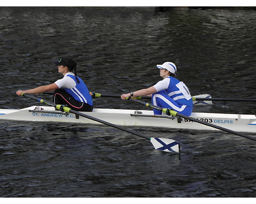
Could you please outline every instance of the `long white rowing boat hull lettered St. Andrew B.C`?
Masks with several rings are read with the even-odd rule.
[[[73,113],[63,115],[60,111],[54,111],[54,107],[51,106],[42,106],[42,108],[44,108],[42,112],[33,112],[35,107],[36,106],[31,106],[20,110],[0,109],[0,119],[38,122],[72,122],[83,124],[99,124],[99,122],[86,119],[85,117],[79,117],[77,119],[76,115]],[[199,124],[198,122],[189,121],[188,119],[181,119],[180,121],[176,117],[173,119],[154,117],[151,110],[121,110],[95,108],[93,112],[84,113],[100,120],[106,120],[107,122],[118,126],[218,130],[209,126],[205,126],[204,124]],[[132,116],[131,114],[134,116]],[[209,122],[216,126],[232,129],[233,131],[256,133],[255,115],[192,113],[191,117],[199,120],[204,120],[205,122]]]

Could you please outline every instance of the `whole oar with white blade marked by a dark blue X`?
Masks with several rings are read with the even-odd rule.
[[[129,129],[125,129],[125,128],[122,128],[120,126],[116,126],[115,124],[112,124],[112,123],[107,122],[105,120],[100,120],[100,119],[97,119],[95,117],[92,117],[91,115],[86,115],[85,113],[77,112],[76,110],[72,110],[71,108],[68,108],[67,106],[56,105],[55,103],[51,103],[51,102],[45,101],[44,99],[36,98],[35,96],[30,96],[30,95],[27,95],[27,94],[22,94],[22,96],[24,96],[26,98],[34,99],[34,100],[36,100],[40,103],[44,103],[46,105],[54,106],[58,110],[61,110],[62,112],[74,113],[76,115],[80,115],[80,116],[85,117],[87,119],[94,120],[94,121],[100,122],[102,124],[106,124],[107,126],[111,126],[113,128],[120,129],[120,130],[125,131],[127,133],[131,133],[133,135],[140,136],[141,138],[145,138],[147,140],[150,140],[150,142],[152,143],[152,145],[154,146],[155,149],[159,149],[159,150],[162,150],[164,152],[177,152],[177,153],[179,153],[179,143],[175,140],[168,139],[168,138],[149,138],[147,136],[141,135],[140,133],[136,133],[136,132],[131,131]]]

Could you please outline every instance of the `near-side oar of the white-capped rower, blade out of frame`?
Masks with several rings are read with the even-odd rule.
[[[231,129],[222,128],[222,127],[220,127],[220,126],[216,126],[216,125],[211,124],[211,123],[209,123],[209,122],[205,122],[205,121],[202,121],[202,120],[195,119],[195,118],[193,118],[193,117],[189,117],[189,116],[187,116],[187,115],[183,115],[183,114],[178,113],[178,112],[175,112],[174,110],[171,110],[171,109],[169,109],[169,108],[161,108],[161,107],[159,107],[159,106],[154,106],[154,105],[151,105],[151,104],[149,104],[149,103],[145,103],[144,101],[140,101],[140,100],[138,100],[138,99],[132,99],[132,98],[128,98],[128,99],[130,99],[131,101],[134,101],[134,102],[136,102],[136,103],[140,103],[140,104],[142,104],[142,105],[148,106],[148,107],[150,107],[150,108],[154,108],[154,109],[156,109],[156,110],[161,110],[162,112],[166,113],[167,115],[173,115],[173,116],[183,117],[184,119],[189,119],[189,120],[191,120],[191,121],[204,124],[205,126],[210,126],[210,127],[212,127],[212,128],[220,129],[220,130],[222,130],[222,131],[226,131],[226,132],[228,132],[228,133],[232,133],[232,134],[234,134],[234,135],[243,136],[244,138],[248,138],[248,139],[250,139],[250,140],[256,141],[256,138],[253,138],[253,137],[251,137],[251,136],[244,135],[244,134],[242,134],[242,133],[237,133],[236,131],[232,131]]]

